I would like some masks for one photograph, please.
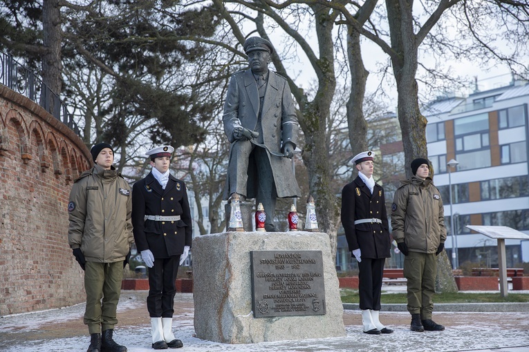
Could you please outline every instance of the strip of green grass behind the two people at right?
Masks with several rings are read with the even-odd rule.
[[[358,303],[358,290],[340,289],[343,303]],[[382,291],[381,303],[406,304],[406,293],[387,293]],[[435,303],[495,303],[495,302],[529,302],[529,295],[524,293],[509,293],[501,297],[500,293],[436,293]]]

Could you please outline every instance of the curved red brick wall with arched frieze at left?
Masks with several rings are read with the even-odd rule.
[[[0,316],[85,300],[66,207],[89,166],[72,130],[0,85]]]

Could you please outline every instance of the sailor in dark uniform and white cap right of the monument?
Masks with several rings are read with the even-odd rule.
[[[342,190],[342,225],[349,251],[358,261],[364,333],[392,333],[378,319],[384,262],[391,256],[384,190],[373,180],[373,152],[355,155],[353,163],[358,177]]]

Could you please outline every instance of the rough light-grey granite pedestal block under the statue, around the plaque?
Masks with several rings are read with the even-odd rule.
[[[251,344],[346,335],[326,233],[217,233],[194,238],[192,251],[197,338]],[[325,314],[254,317],[250,251],[321,251]]]

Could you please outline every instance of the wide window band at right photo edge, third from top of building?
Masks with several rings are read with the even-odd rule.
[[[526,197],[529,195],[527,176],[490,179],[480,182],[481,200]]]

